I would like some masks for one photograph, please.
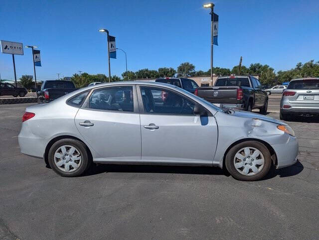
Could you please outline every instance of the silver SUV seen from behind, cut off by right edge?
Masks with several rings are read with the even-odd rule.
[[[319,115],[319,78],[291,80],[280,102],[280,119]]]

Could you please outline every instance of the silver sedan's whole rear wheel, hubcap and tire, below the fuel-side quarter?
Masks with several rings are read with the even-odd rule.
[[[56,141],[48,154],[50,167],[63,177],[77,177],[91,164],[83,142],[66,138]]]

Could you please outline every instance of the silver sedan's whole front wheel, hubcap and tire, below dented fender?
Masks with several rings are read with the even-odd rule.
[[[242,181],[255,181],[267,175],[271,167],[268,148],[259,141],[245,141],[233,146],[227,153],[228,172]]]

